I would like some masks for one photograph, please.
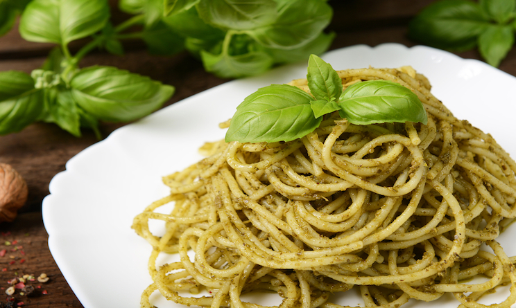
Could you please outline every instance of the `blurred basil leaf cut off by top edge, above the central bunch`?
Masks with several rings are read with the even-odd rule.
[[[273,0],[200,0],[197,10],[207,24],[234,30],[272,24],[277,17]]]

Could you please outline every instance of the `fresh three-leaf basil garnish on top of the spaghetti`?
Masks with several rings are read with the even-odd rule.
[[[309,58],[307,80],[312,96],[288,84],[252,93],[236,107],[225,141],[293,141],[313,132],[323,116],[334,111],[355,125],[427,124],[427,112],[418,96],[395,82],[357,82],[343,91],[336,71],[316,55]]]

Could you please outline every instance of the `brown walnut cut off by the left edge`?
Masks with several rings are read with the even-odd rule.
[[[13,221],[27,201],[27,183],[6,163],[0,163],[0,222]]]

